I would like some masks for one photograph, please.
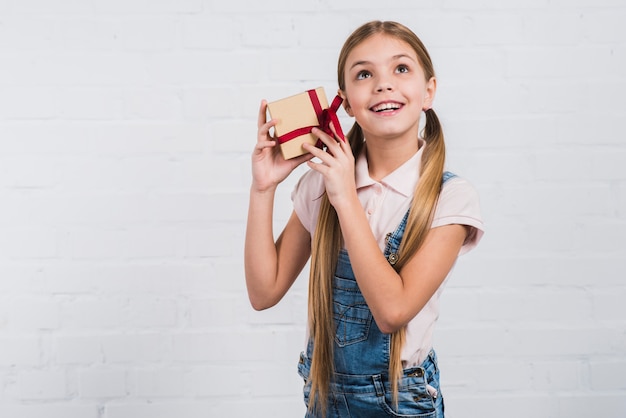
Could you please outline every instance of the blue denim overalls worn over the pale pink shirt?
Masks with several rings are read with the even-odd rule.
[[[443,182],[454,177],[445,172]],[[385,257],[397,261],[397,251],[406,227],[408,212],[397,229],[387,234]],[[443,397],[439,390],[437,357],[431,350],[418,367],[405,369],[398,385],[398,405],[393,402],[389,381],[391,335],[383,334],[361,294],[348,253],[341,250],[333,278],[335,321],[334,366],[326,417],[444,418]],[[309,373],[313,342],[300,355],[298,373],[305,381],[304,401],[309,405]],[[307,411],[306,417],[318,417]]]

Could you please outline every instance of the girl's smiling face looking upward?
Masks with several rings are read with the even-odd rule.
[[[413,48],[386,34],[373,35],[348,54],[344,69],[346,112],[369,139],[415,141],[422,110],[431,107],[436,80],[426,80]]]

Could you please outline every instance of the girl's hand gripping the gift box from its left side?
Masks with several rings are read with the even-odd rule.
[[[257,143],[252,153],[252,187],[264,192],[275,188],[300,164],[313,158],[304,154],[285,160],[280,153],[278,141],[270,135],[270,129],[278,120],[267,120],[267,101],[261,101],[259,108]]]

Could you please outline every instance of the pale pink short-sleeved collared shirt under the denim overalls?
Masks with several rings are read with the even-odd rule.
[[[357,158],[357,195],[381,251],[385,248],[385,236],[396,230],[411,205],[413,192],[419,180],[423,141],[421,145],[415,155],[380,182],[369,176],[366,152],[362,152]],[[311,233],[311,237],[317,223],[319,198],[323,193],[324,179],[313,170],[302,176],[292,193],[296,215]],[[453,177],[444,184],[432,227],[451,224],[471,227],[471,233],[461,247],[459,255],[474,248],[483,235],[478,193],[470,183],[460,177]],[[405,367],[420,365],[432,348],[433,326],[439,316],[439,297],[443,287],[442,284],[426,306],[407,325],[407,339],[402,352]]]

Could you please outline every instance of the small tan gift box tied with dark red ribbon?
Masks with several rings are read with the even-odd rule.
[[[324,88],[318,87],[312,91],[315,93],[306,91],[267,104],[270,117],[280,119],[274,126],[274,134],[286,160],[306,154],[302,148],[305,142],[312,145],[318,143],[318,138],[310,132],[312,127],[319,126],[319,112],[328,109],[328,100]],[[315,100],[318,103],[314,103]]]

